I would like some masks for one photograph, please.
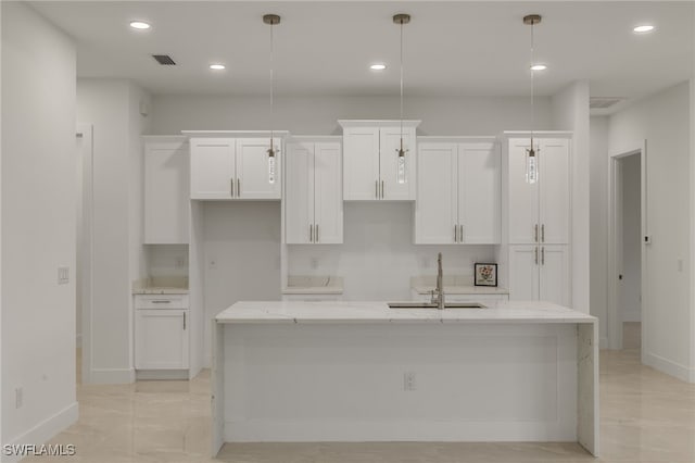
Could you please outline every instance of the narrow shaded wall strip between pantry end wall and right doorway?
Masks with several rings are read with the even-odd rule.
[[[590,242],[591,314],[598,317],[599,346],[608,347],[608,117],[591,117]]]

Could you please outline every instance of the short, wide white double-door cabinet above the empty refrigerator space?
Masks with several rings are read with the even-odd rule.
[[[191,136],[191,199],[280,199],[281,138]]]

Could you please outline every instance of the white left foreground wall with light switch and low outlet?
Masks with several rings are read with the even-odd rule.
[[[75,284],[58,285],[75,271],[75,47],[25,4],[1,8],[0,441],[41,443],[77,420]]]

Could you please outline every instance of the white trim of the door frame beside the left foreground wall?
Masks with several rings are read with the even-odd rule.
[[[83,221],[81,224],[81,291],[76,295],[81,299],[81,349],[83,349],[83,384],[89,384],[92,379],[92,339],[91,339],[91,313],[93,306],[92,291],[92,270],[93,270],[93,125],[77,124],[75,136],[81,140],[81,203],[83,203]]]

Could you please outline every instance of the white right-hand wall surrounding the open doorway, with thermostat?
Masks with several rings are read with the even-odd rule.
[[[643,362],[695,380],[691,359],[690,85],[683,83],[610,116],[609,154],[646,139],[646,227],[642,275]],[[682,271],[679,268],[682,261]]]

